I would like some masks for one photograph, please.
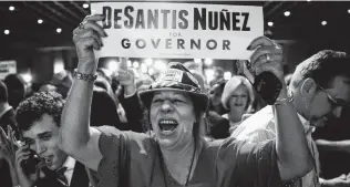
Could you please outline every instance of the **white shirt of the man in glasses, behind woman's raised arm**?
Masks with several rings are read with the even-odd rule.
[[[319,153],[317,150],[316,144],[311,137],[311,133],[315,131],[315,127],[310,123],[299,115],[300,122],[303,126],[305,134],[307,137],[309,149],[313,156],[315,166],[309,174],[302,177],[302,186],[311,187],[318,185],[318,174],[320,173],[319,164]],[[276,128],[275,128],[275,117],[271,106],[266,106],[256,114],[251,115],[249,118],[244,121],[233,133],[231,137],[235,137],[240,141],[249,141],[253,143],[259,143],[267,139],[276,138]]]

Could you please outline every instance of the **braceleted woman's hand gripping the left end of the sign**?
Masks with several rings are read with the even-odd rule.
[[[87,15],[73,31],[73,41],[76,48],[79,66],[96,69],[95,55],[93,50],[100,50],[102,44],[101,38],[107,37],[103,28],[97,24],[97,21],[103,21],[104,15],[93,14]],[[83,71],[84,69],[80,70]],[[92,73],[92,72],[83,72]]]

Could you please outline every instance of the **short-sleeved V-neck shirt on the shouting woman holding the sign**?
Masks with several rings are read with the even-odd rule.
[[[103,158],[93,184],[99,187],[179,187],[167,175],[154,135],[97,127]],[[251,144],[226,138],[203,141],[188,187],[280,186],[275,141]],[[166,167],[165,167],[166,168]],[[169,178],[166,178],[169,177]]]

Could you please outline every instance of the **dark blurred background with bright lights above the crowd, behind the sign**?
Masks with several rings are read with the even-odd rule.
[[[292,72],[296,64],[319,50],[349,49],[350,2],[305,0],[200,3],[262,7],[265,34],[282,45],[286,73]],[[27,82],[35,85],[48,83],[54,73],[72,71],[76,65],[72,31],[87,14],[89,1],[1,1],[0,69],[1,64],[9,65],[7,70],[2,65],[0,79],[6,73],[19,73]],[[216,66],[225,70],[225,79],[229,79],[236,71],[233,60],[215,59],[130,59],[128,65],[136,72],[156,75],[171,61],[195,61],[208,82],[214,79]],[[116,63],[115,60],[102,60],[100,66],[113,71]]]

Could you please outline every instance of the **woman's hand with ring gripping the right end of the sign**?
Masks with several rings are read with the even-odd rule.
[[[285,86],[282,69],[282,48],[267,37],[259,37],[251,41],[247,50],[256,50],[250,56],[251,71],[255,75],[269,71],[274,73]]]

